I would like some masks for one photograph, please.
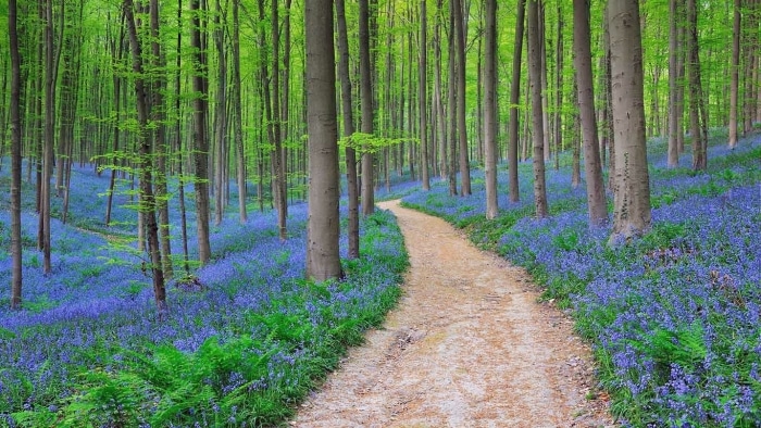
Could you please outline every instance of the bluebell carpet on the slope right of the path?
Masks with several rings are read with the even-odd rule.
[[[666,168],[664,142],[649,143],[653,226],[628,243],[610,244],[610,226],[589,228],[584,184],[571,187],[565,158],[548,169],[546,219],[532,217],[528,163],[519,203],[500,175],[495,221],[484,216],[479,172],[472,197],[449,197],[439,182],[403,201],[525,266],[546,299],[573,313],[624,426],[759,427],[761,137],[735,150],[715,140],[704,173],[689,168],[689,153]]]

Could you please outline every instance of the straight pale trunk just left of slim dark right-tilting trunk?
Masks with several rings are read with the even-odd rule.
[[[484,64],[484,151],[486,176],[486,218],[499,213],[497,202],[497,0],[486,0]]]

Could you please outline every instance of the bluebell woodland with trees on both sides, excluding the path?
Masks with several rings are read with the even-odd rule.
[[[0,427],[287,424],[403,294],[397,199],[572,315],[617,423],[761,423],[759,0],[9,0],[0,28]]]

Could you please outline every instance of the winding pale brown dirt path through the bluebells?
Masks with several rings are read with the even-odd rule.
[[[396,201],[412,267],[384,325],[299,408],[298,427],[612,426],[588,348],[528,276]]]

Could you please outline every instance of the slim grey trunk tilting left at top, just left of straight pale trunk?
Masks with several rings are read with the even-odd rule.
[[[462,16],[462,0],[451,0],[454,11],[454,50],[457,53],[457,123],[460,138],[460,196],[471,194],[471,165],[467,153],[465,125],[465,34]]]

